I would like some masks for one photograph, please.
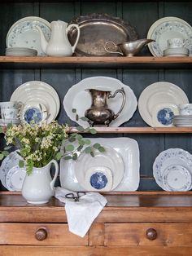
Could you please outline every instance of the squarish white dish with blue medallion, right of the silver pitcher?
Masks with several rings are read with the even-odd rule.
[[[157,104],[152,111],[152,121],[155,127],[173,126],[173,118],[179,110],[175,104]]]

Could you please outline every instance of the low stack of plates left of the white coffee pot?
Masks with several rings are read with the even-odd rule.
[[[37,56],[37,50],[25,47],[9,47],[6,49],[7,56]]]

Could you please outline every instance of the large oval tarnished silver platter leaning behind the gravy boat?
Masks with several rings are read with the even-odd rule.
[[[137,33],[129,23],[107,14],[79,16],[72,19],[70,24],[72,23],[78,24],[80,28],[80,39],[76,45],[75,55],[111,55],[104,49],[107,41],[119,44],[137,40]],[[69,30],[68,39],[73,45],[76,41],[76,28]]]

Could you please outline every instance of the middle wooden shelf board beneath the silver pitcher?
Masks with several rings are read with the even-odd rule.
[[[186,134],[192,133],[192,127],[94,127],[103,134]],[[78,132],[72,127],[71,132]]]

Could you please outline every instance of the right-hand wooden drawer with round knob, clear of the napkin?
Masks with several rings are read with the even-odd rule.
[[[107,246],[192,246],[191,223],[105,224]]]

